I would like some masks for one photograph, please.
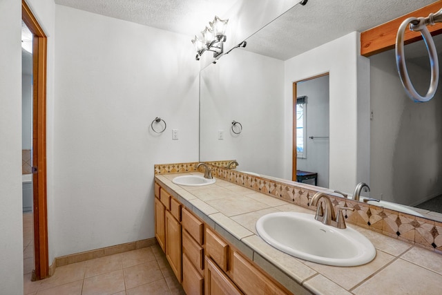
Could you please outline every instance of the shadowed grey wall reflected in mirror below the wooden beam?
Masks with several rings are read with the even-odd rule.
[[[442,194],[441,82],[430,102],[412,102],[398,77],[394,50],[374,55],[370,61],[370,196],[416,205]],[[416,90],[426,93],[430,71],[411,62],[407,68]]]

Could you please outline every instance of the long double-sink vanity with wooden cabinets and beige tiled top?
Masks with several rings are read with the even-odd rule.
[[[357,202],[297,182],[289,202],[274,180],[196,164],[155,165],[155,237],[186,294],[441,294],[442,256],[354,225]]]

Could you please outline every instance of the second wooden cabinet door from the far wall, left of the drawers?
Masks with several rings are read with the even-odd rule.
[[[166,258],[181,283],[181,224],[166,211]]]

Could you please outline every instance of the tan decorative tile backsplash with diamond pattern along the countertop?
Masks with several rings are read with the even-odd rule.
[[[236,170],[227,170],[224,167],[227,167],[229,162],[215,161],[206,162],[206,164],[211,164],[214,177],[265,193],[273,198],[316,210],[316,207],[309,207],[308,204],[309,197],[318,192],[314,190],[314,187],[307,189],[304,185],[299,185],[298,182],[278,182]],[[158,164],[155,165],[155,175],[196,171],[195,166],[197,164],[198,162]],[[332,200],[335,209],[337,206],[354,209],[354,211],[344,211],[347,222],[442,254],[442,222],[376,207],[355,200],[327,196]]]

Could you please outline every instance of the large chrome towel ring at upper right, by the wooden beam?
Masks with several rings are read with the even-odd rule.
[[[409,17],[401,23],[398,29],[398,35],[396,36],[396,66],[398,68],[399,77],[405,88],[407,95],[414,100],[414,102],[427,102],[434,97],[439,83],[439,59],[437,58],[436,46],[434,46],[433,38],[427,29],[427,25],[434,26],[434,23],[442,22],[442,9],[436,13],[430,13],[428,17]],[[421,32],[423,41],[428,50],[431,66],[431,81],[425,96],[419,95],[414,89],[410,77],[408,75],[407,66],[405,65],[404,56],[404,35],[405,29],[410,24],[410,30],[415,32]]]

